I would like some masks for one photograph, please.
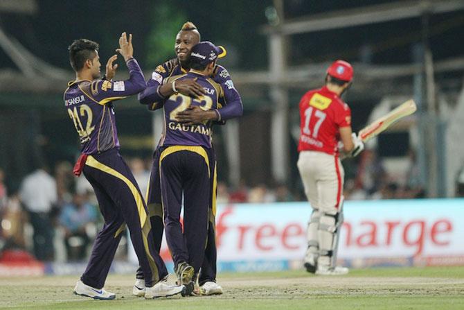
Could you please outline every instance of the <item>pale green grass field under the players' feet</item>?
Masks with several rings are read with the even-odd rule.
[[[110,275],[116,300],[73,295],[75,277],[0,277],[0,309],[464,309],[464,267],[375,268],[321,277],[303,270],[224,273],[223,295],[144,300],[134,277]]]

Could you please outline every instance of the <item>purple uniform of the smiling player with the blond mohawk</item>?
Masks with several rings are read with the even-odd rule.
[[[165,98],[159,93],[159,87],[163,81],[172,76],[186,74],[187,71],[181,67],[177,58],[168,60],[160,64],[152,73],[152,77],[148,80],[148,87],[139,94],[139,101],[148,105],[149,110],[158,110],[163,107]],[[239,117],[243,113],[242,99],[240,94],[233,87],[233,82],[229,72],[222,66],[216,65],[213,71],[212,79],[215,83],[222,85],[224,89],[224,97],[219,98],[220,109],[217,111],[220,114],[221,121],[214,123],[225,123],[226,119]],[[164,136],[163,136],[164,137]],[[161,137],[161,141],[163,140]],[[160,141],[160,143],[161,143]],[[150,174],[150,183],[148,184],[147,205],[150,210],[150,221],[152,222],[152,236],[157,250],[161,248],[163,238],[163,207],[161,205],[161,185],[159,175],[159,156],[161,155],[160,148],[157,147],[153,154],[153,165]],[[216,158],[214,148],[208,151],[211,156],[210,160],[210,194],[209,194],[209,209],[208,209],[208,241],[205,249],[204,261],[202,264],[202,272],[199,275],[199,284],[213,281],[216,279],[216,261],[217,249],[215,243],[215,212],[216,212]],[[143,279],[141,269],[137,270],[137,278]]]

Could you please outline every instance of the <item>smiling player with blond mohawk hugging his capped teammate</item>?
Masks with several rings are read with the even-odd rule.
[[[170,76],[177,76],[179,74],[186,74],[190,69],[190,52],[193,46],[200,40],[200,34],[196,26],[190,21],[186,22],[181,31],[177,34],[175,41],[176,58],[168,60],[164,64],[160,64],[152,74],[152,78],[148,80],[148,87],[139,94],[139,101],[148,105],[150,110],[157,110],[163,107],[162,102],[164,98],[179,92],[185,96],[202,96],[204,89],[201,85],[195,82],[195,78],[184,78],[175,80],[171,83],[163,83],[166,78]],[[222,58],[226,54],[225,49],[218,55]],[[218,110],[202,110],[201,108],[193,105],[192,107],[179,112],[177,118],[181,123],[186,125],[193,125],[194,123],[202,123],[203,121],[215,121],[215,123],[224,123],[226,119],[233,117],[240,117],[243,113],[242,100],[240,94],[233,86],[233,81],[229,72],[220,65],[215,66],[211,76],[216,83],[223,84],[226,87],[226,97],[224,106],[220,106]],[[222,99],[220,99],[222,100]],[[226,105],[225,105],[226,103]],[[163,138],[161,138],[162,141]],[[160,143],[161,143],[160,141]],[[210,163],[211,180],[210,180],[210,209],[208,210],[208,241],[206,244],[204,263],[202,271],[199,275],[199,291],[202,295],[222,294],[222,287],[216,283],[216,257],[217,250],[215,244],[215,210],[216,210],[216,161],[214,149],[211,148],[214,160]],[[159,250],[161,248],[161,240],[163,236],[162,223],[163,211],[161,207],[161,189],[159,184],[159,148],[154,151],[153,166],[150,175],[150,184],[148,188],[147,205],[150,212],[150,219],[152,221],[152,235],[154,243]],[[143,282],[143,275],[139,269],[137,272],[137,280],[134,285],[134,295],[143,294],[145,289]]]

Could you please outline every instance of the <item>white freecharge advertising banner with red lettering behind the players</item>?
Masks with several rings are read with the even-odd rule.
[[[464,265],[464,199],[346,201],[343,210],[344,265]],[[311,211],[309,203],[219,205],[218,268],[300,268]],[[172,261],[166,240],[161,256]]]

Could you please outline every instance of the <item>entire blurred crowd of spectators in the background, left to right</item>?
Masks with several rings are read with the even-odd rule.
[[[151,160],[134,157],[127,162],[143,196],[150,179]],[[357,162],[348,162],[346,200],[424,198],[418,171],[411,155],[405,178],[386,172],[382,160],[370,150]],[[24,178],[18,189],[7,189],[7,175],[0,169],[0,252],[10,248],[27,250],[39,261],[80,261],[102,225],[93,189],[84,177],[75,178],[73,165],[60,162],[53,170],[41,167]],[[401,182],[399,181],[401,180]],[[458,193],[459,196],[459,193]],[[217,183],[217,203],[274,203],[305,201],[301,184],[250,185],[237,187]],[[123,239],[116,253],[127,255]]]

